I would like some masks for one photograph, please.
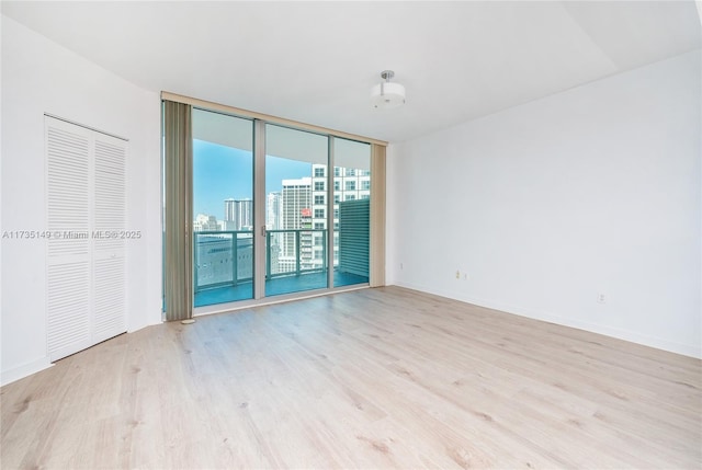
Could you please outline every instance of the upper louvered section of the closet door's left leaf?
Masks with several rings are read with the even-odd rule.
[[[49,256],[86,255],[90,228],[90,140],[57,127],[47,129],[46,140]]]

